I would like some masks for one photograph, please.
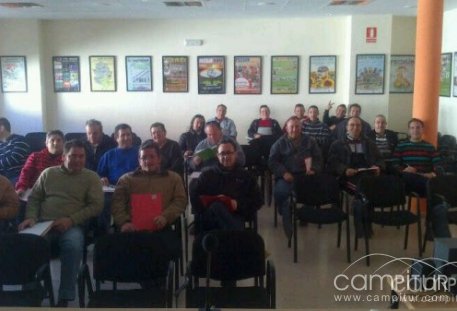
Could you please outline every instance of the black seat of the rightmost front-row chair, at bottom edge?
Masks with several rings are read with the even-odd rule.
[[[188,291],[191,295],[186,301],[187,308],[198,308],[205,305],[206,289],[194,288]],[[240,304],[242,301],[242,304]],[[217,308],[268,309],[269,295],[260,287],[211,287],[211,305]]]

